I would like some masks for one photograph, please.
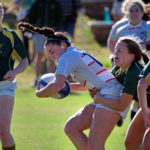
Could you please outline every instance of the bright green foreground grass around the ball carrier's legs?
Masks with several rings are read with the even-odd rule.
[[[66,120],[92,99],[88,92],[73,92],[67,98],[39,99],[35,89],[16,90],[12,133],[19,150],[75,150],[65,135]],[[125,150],[123,141],[129,117],[121,128],[115,127],[106,143],[107,150]],[[88,134],[88,131],[86,131]]]

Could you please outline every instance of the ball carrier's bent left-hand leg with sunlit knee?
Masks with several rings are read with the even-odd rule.
[[[78,150],[88,150],[88,138],[83,131],[90,128],[94,109],[94,105],[86,105],[65,125],[65,133]]]

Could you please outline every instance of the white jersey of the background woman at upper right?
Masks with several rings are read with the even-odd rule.
[[[116,41],[123,36],[133,36],[141,44],[150,43],[150,22],[142,20],[135,26],[128,23],[120,27],[116,33]]]

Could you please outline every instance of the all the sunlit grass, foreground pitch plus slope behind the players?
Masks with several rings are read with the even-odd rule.
[[[1,0],[9,7],[11,0]],[[84,17],[86,50],[96,56],[105,66],[110,68],[109,50],[94,40],[87,21]],[[5,23],[8,26],[7,23]],[[15,29],[18,34],[19,30]],[[75,32],[75,44],[82,48],[80,18],[78,18]],[[31,46],[32,47],[32,46]],[[32,51],[32,50],[31,50]],[[92,101],[88,92],[73,92],[63,100],[39,99],[35,96],[35,89],[30,88],[34,80],[33,66],[17,77],[12,133],[18,150],[75,150],[72,143],[64,134],[63,127],[66,120],[78,109]],[[129,125],[129,116],[121,128],[115,127],[107,143],[107,150],[125,150],[124,138]],[[88,131],[86,131],[88,135]]]

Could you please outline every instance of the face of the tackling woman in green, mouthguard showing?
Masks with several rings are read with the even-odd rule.
[[[123,69],[126,69],[132,62],[133,54],[130,54],[125,42],[119,41],[116,44],[114,52],[114,63]]]

